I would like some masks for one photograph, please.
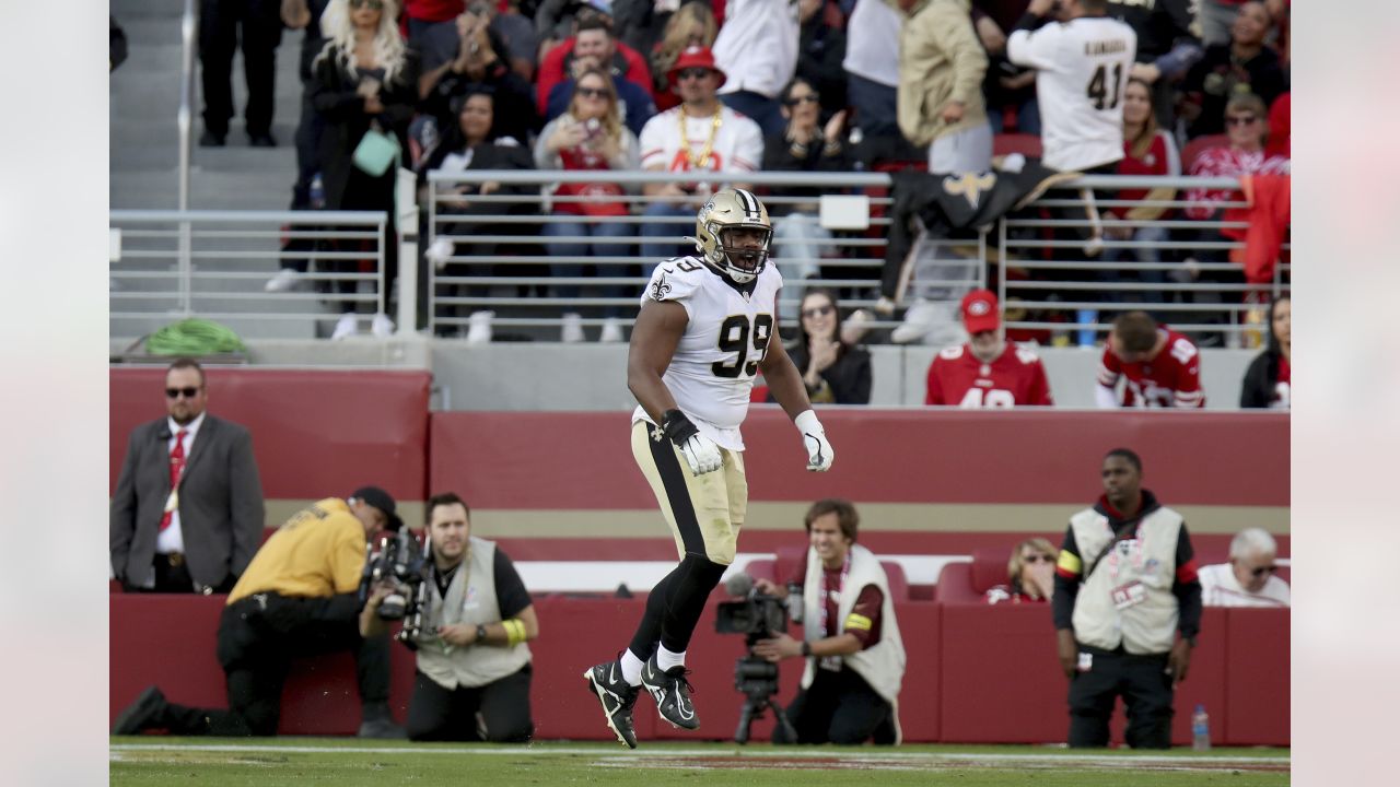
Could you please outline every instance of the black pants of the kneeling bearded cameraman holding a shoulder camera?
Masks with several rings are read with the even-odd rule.
[[[518,744],[535,734],[529,714],[532,668],[476,688],[444,689],[423,672],[414,675],[409,700],[410,741],[490,741]],[[482,714],[477,725],[476,714]]]

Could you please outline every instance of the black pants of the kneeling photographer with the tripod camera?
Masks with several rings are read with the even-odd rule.
[[[818,669],[788,707],[788,721],[798,744],[895,742],[893,707],[854,669]]]

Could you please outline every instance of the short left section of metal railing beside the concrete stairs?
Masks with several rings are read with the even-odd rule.
[[[113,210],[112,335],[195,315],[309,325],[356,307],[385,311],[386,221],[375,211]],[[267,291],[302,262],[290,288]]]

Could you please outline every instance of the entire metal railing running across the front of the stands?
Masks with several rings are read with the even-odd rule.
[[[120,231],[122,259],[112,266],[113,335],[132,335],[119,329],[122,321],[169,318],[172,315],[210,316],[214,319],[312,319],[336,316],[335,307],[321,301],[344,301],[370,307],[370,311],[396,314],[400,330],[426,323],[434,332],[452,332],[469,325],[469,314],[496,312],[498,330],[517,329],[528,337],[557,336],[566,314],[580,315],[580,325],[596,326],[610,321],[629,325],[636,315],[637,297],[652,266],[665,256],[687,251],[683,235],[694,232],[696,197],[644,196],[645,183],[687,182],[694,174],[669,172],[560,172],[560,171],[463,171],[431,172],[427,178],[424,249],[448,244],[449,253],[433,256],[426,265],[423,302],[427,314],[419,318],[413,293],[419,279],[400,279],[399,309],[386,308],[393,283],[384,280],[385,221],[378,213],[329,211],[112,211],[112,227]],[[622,216],[584,216],[557,210],[588,197],[554,193],[557,183],[609,182],[627,193],[619,196],[627,209]],[[773,262],[783,270],[788,287],[780,300],[784,322],[791,322],[804,287],[832,287],[843,293],[848,308],[867,308],[874,315],[872,329],[902,325],[903,312],[879,311],[881,274],[889,234],[888,211],[890,179],[885,174],[770,174],[745,176],[763,196],[776,227]],[[459,195],[461,186],[494,182],[486,196]],[[1075,330],[1098,335],[1109,326],[1112,315],[1142,308],[1165,316],[1182,330],[1215,330],[1238,336],[1250,328],[1252,307],[1243,295],[1253,287],[1238,280],[1240,266],[1226,255],[1242,244],[1219,235],[1221,230],[1242,228],[1243,223],[1222,220],[1191,221],[1162,218],[1127,221],[1102,217],[1098,223],[1082,214],[1081,189],[1102,192],[1175,186],[1172,200],[1151,203],[1172,209],[1190,206],[1186,190],[1193,186],[1232,189],[1229,178],[1119,178],[1092,176],[1050,190],[1029,209],[998,221],[983,232],[962,239],[931,241],[918,237],[910,255],[914,280],[906,302],[924,297],[938,301],[939,314],[952,319],[963,293],[997,279],[1002,308],[1009,308],[1009,329]],[[819,196],[785,196],[790,189],[818,189],[830,200],[836,195],[865,195],[868,227],[864,230],[816,231]],[[676,217],[657,216],[654,206],[685,204]],[[1141,200],[1096,200],[1100,210],[1116,206],[1142,206]],[[1226,202],[1218,207],[1239,207]],[[802,207],[813,218],[794,218],[790,210]],[[651,209],[652,213],[648,213]],[[809,210],[808,210],[809,209]],[[778,214],[783,216],[778,216]],[[808,234],[794,239],[798,224]],[[609,225],[620,232],[609,237],[580,234],[580,225]],[[847,224],[848,225],[848,224]],[[648,237],[657,228],[657,237]],[[1098,253],[1084,253],[1085,241],[1077,234],[1126,228],[1152,230],[1154,237],[1119,239],[1102,237],[1093,245]],[[405,227],[412,237],[412,227]],[[566,234],[566,231],[568,234]],[[797,232],[801,235],[799,232]],[[309,251],[284,251],[283,241],[295,238],[312,245]],[[347,244],[365,248],[346,249]],[[589,244],[595,256],[550,253],[550,245]],[[657,253],[657,244],[664,253]],[[1285,245],[1285,249],[1288,246]],[[557,246],[556,246],[557,251]],[[413,272],[413,246],[406,245],[400,270]],[[647,253],[651,252],[651,253]],[[1106,262],[1121,252],[1154,252],[1161,258],[1124,258]],[[991,255],[995,255],[993,259]],[[1194,258],[1182,262],[1182,256]],[[301,284],[287,293],[267,293],[263,283],[284,263],[305,259],[309,272]],[[365,270],[333,273],[323,267],[336,260],[365,260]],[[988,262],[991,260],[991,262]],[[592,266],[592,276],[587,267]],[[797,274],[811,277],[795,284]],[[1288,263],[1278,265],[1267,290],[1287,293]],[[1107,274],[1107,276],[1106,276]],[[1158,274],[1163,280],[1158,280]],[[1116,279],[1114,279],[1116,277]],[[1233,280],[1231,280],[1233,277]],[[308,283],[326,290],[336,281],[361,283],[364,291],[316,294]],[[412,287],[403,284],[413,284]],[[1086,314],[1081,315],[1084,311]],[[1092,314],[1091,314],[1092,312]],[[616,316],[609,316],[616,315]],[[1081,323],[1079,319],[1084,319]],[[1267,330],[1267,329],[1266,329]],[[878,333],[871,335],[879,340]]]

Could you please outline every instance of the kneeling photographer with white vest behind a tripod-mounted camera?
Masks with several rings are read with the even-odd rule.
[[[759,640],[769,661],[806,658],[802,690],[788,709],[798,744],[897,744],[904,643],[879,559],[855,543],[860,515],[847,500],[818,500],[808,510],[809,546],[801,581],[802,641],[787,633]],[[756,580],[760,592],[788,588]],[[778,741],[777,735],[774,742]]]

